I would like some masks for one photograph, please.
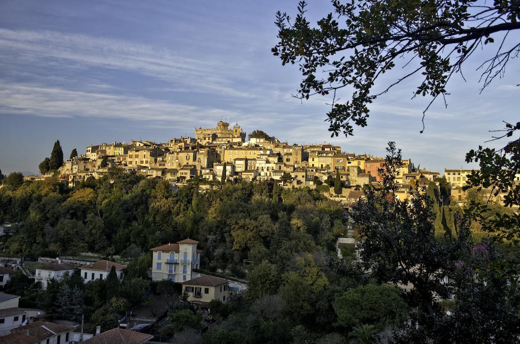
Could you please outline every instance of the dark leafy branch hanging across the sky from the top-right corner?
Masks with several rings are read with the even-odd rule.
[[[367,125],[369,104],[412,75],[422,81],[413,92],[429,96],[430,103],[447,95],[446,85],[464,62],[484,46],[495,43],[495,54],[478,67],[482,90],[501,77],[510,58],[518,57],[520,42],[508,42],[508,33],[520,29],[518,0],[333,0],[334,13],[311,26],[306,3],[300,2],[293,20],[277,12],[279,42],[272,52],[282,64],[297,63],[303,75],[298,98],[332,96],[327,121],[332,136],[353,135],[353,124]],[[372,89],[382,74],[405,58],[402,74],[381,92]],[[340,92],[352,97],[340,103]],[[446,100],[445,104],[446,104]],[[424,130],[424,127],[423,127]],[[421,131],[422,132],[422,131]]]

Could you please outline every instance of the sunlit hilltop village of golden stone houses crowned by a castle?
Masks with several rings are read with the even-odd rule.
[[[64,161],[58,172],[70,187],[88,177],[98,179],[118,169],[149,178],[160,177],[174,187],[194,178],[210,185],[224,180],[274,181],[286,188],[317,188],[343,203],[358,200],[362,196],[360,186],[382,181],[381,157],[356,155],[332,144],[290,145],[262,131],[250,134],[249,140],[246,137],[240,125],[230,128],[229,123],[219,121],[216,128],[196,129],[194,138],[172,138],[166,143],[132,140],[90,145],[85,154]],[[410,159],[402,162],[396,179],[397,196],[401,199],[409,198],[419,187],[441,176],[439,172],[416,169]],[[466,199],[462,186],[469,173],[471,170],[444,171],[452,196],[459,203]]]

